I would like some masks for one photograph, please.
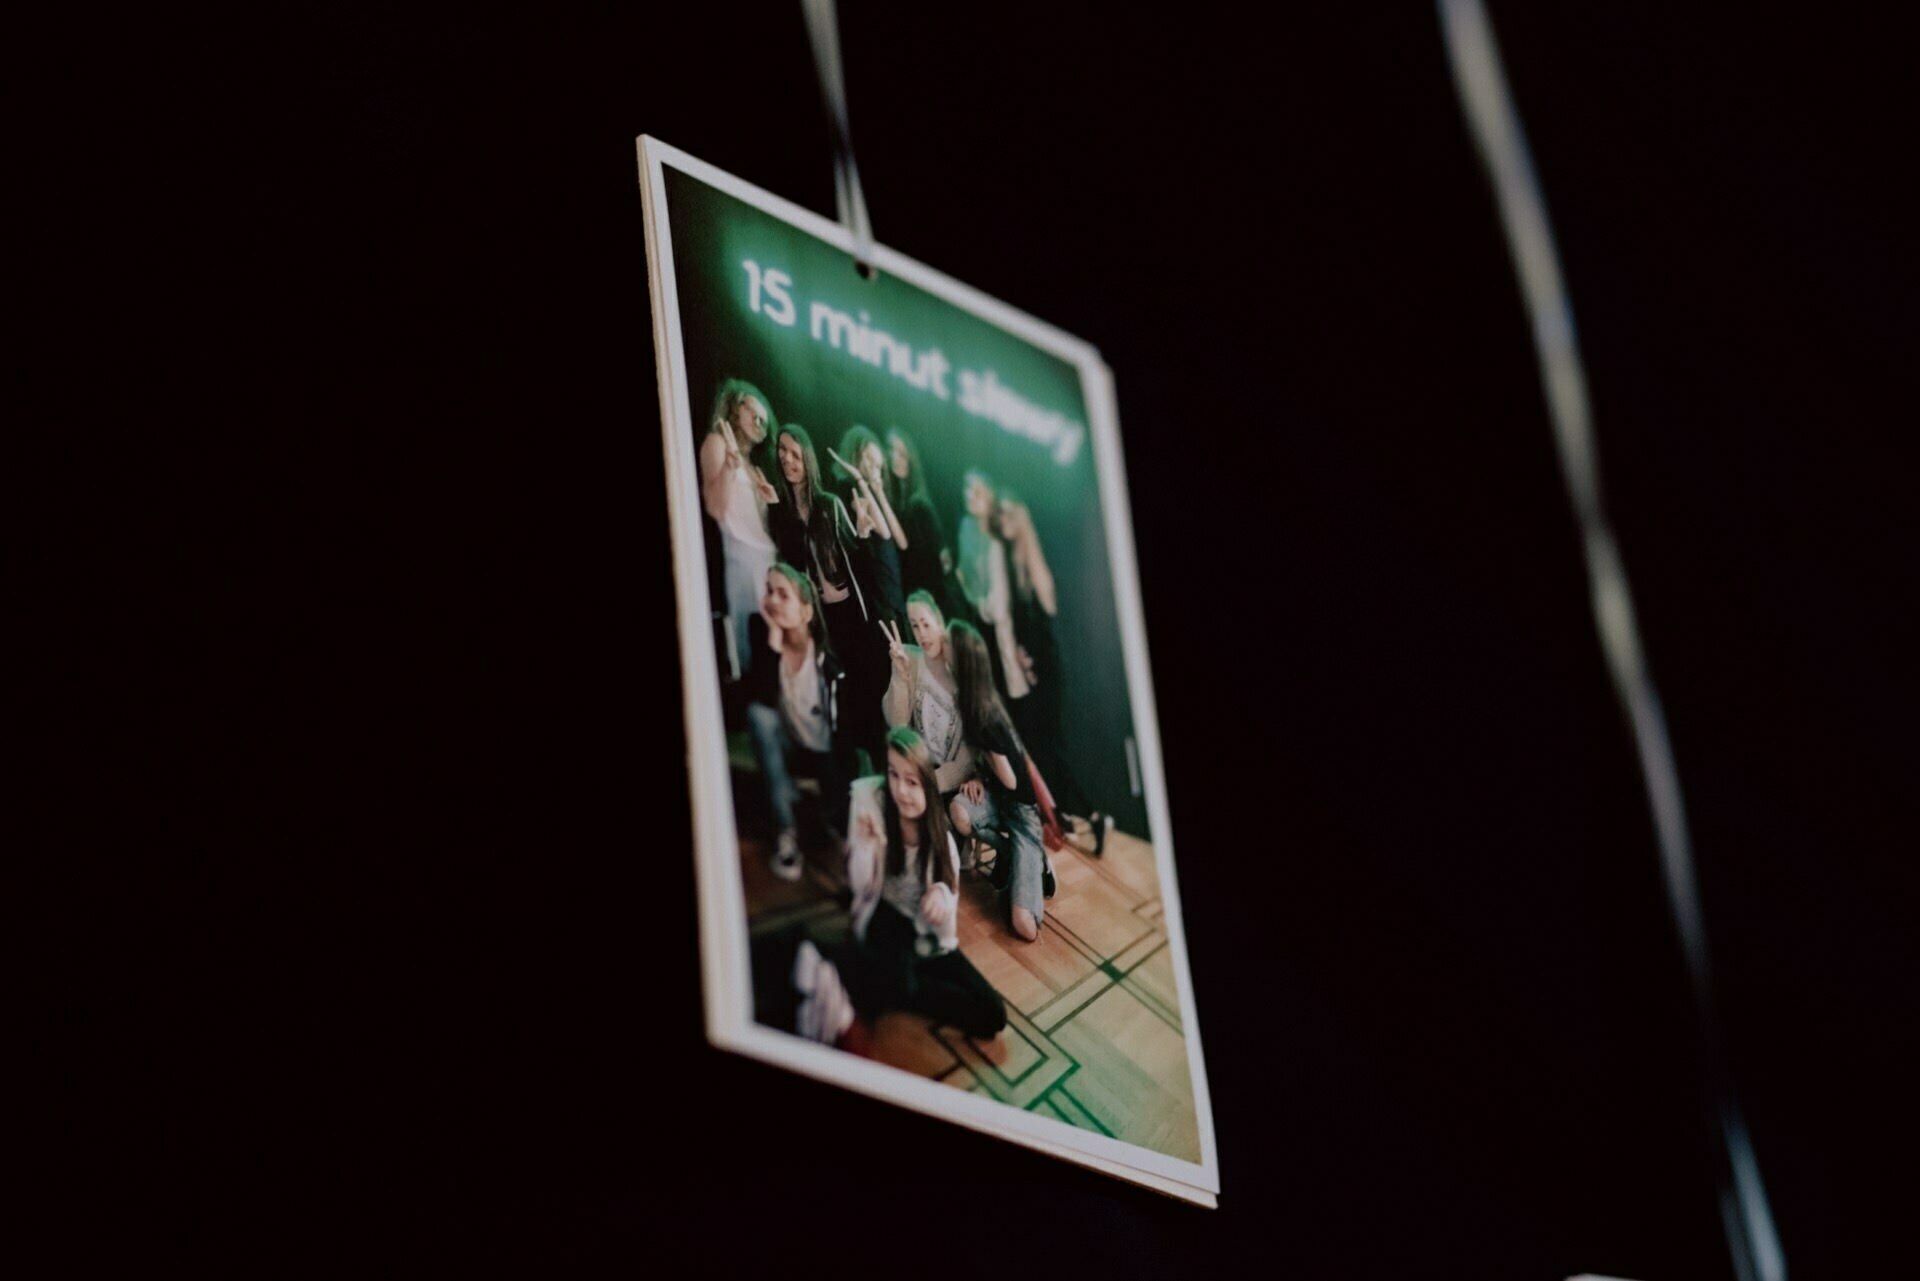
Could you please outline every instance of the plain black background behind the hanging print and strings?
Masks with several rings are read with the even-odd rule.
[[[63,741],[115,780],[71,810],[75,918],[131,945],[69,1018],[100,1100],[52,1175],[88,1216],[69,1245],[1730,1275],[1655,847],[1436,19],[1325,8],[841,15],[879,236],[1117,373],[1215,1214],[703,1045],[634,136],[829,209],[795,6],[83,36],[94,75],[21,123],[88,192],[86,284],[40,328],[88,338],[73,390],[121,403],[86,459],[106,501],[75,511],[129,534],[46,526],[113,613],[48,670],[102,695]],[[1905,46],[1536,8],[1494,19],[1728,1058],[1793,1275],[1889,1275]],[[84,123],[46,146],[48,119]],[[94,847],[98,816],[127,830]]]

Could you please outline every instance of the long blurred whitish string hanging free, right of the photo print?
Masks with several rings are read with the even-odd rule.
[[[1561,280],[1559,252],[1553,248],[1546,200],[1534,177],[1519,111],[1507,90],[1500,46],[1486,19],[1486,8],[1480,0],[1438,0],[1438,4],[1453,85],[1494,184],[1513,269],[1521,278],[1521,294],[1526,298],[1526,311],[1532,317],[1540,382],[1546,390],[1548,415],[1559,446],[1561,476],[1580,519],[1594,626],[1599,632],[1613,689],[1634,730],[1640,774],[1653,809],[1667,903],[1693,985],[1707,1093],[1726,1156],[1726,1168],[1720,1172],[1720,1220],[1734,1256],[1734,1271],[1740,1281],[1786,1281],[1786,1256],[1766,1208],[1761,1168],[1753,1156],[1753,1145],[1747,1141],[1747,1127],[1732,1085],[1720,1068],[1713,1022],[1713,976],[1707,962],[1707,926],[1701,918],[1699,887],[1693,878],[1693,849],[1680,799],[1680,774],[1674,768],[1667,716],[1661,713],[1653,674],[1640,649],[1640,628],[1634,622],[1634,597],[1626,582],[1626,565],[1620,561],[1619,544],[1607,522],[1605,507],[1601,507],[1599,459],[1594,449],[1586,375],[1580,369],[1572,305],[1567,302],[1567,286]]]

